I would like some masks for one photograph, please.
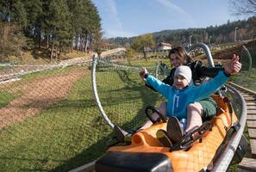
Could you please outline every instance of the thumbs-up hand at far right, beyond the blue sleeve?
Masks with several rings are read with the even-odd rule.
[[[241,64],[239,62],[239,56],[233,55],[233,58],[224,65],[225,73],[231,75],[233,73],[238,73],[241,69]]]

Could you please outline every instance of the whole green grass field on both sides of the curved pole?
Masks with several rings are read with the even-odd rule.
[[[167,60],[164,62],[169,64]],[[132,62],[146,67],[153,67],[155,63],[155,59]],[[146,120],[144,108],[158,106],[163,99],[145,88],[139,71],[103,69],[97,69],[97,89],[109,119],[129,130],[141,126]],[[41,75],[58,75],[59,72],[31,74],[24,77],[24,81],[41,78]],[[252,81],[255,79],[253,72],[256,71],[250,75]],[[240,75],[241,78],[246,76]],[[3,101],[3,106],[16,98],[0,92],[3,94],[9,97]],[[41,114],[0,130],[0,171],[74,169],[103,155],[111,137],[113,133],[100,115],[92,95],[91,75],[87,74],[73,84],[66,99],[47,107]]]

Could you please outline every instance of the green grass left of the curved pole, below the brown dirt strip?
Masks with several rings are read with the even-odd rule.
[[[90,79],[79,80],[66,100],[2,129],[0,169],[66,171],[101,155],[110,130],[97,112]]]

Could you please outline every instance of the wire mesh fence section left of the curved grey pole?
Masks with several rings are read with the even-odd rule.
[[[89,65],[1,67],[0,171],[66,171],[101,155],[108,128],[92,96]],[[14,73],[20,75],[6,77]]]

